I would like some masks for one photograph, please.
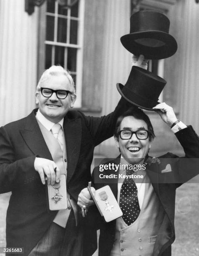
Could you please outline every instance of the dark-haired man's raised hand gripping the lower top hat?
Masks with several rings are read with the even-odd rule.
[[[153,109],[161,116],[162,120],[165,123],[167,123],[170,127],[174,122],[176,122],[177,118],[173,108],[167,105],[165,102],[156,105]]]

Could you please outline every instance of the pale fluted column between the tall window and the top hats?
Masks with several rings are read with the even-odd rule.
[[[116,83],[125,84],[131,70],[131,53],[120,42],[121,36],[130,31],[130,1],[108,0],[104,23],[106,24],[105,38],[103,40],[103,103],[102,115],[114,110],[120,99]],[[113,146],[113,151],[110,147]],[[115,156],[113,138],[103,142],[99,154]]]

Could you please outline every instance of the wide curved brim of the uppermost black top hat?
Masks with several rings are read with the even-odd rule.
[[[135,39],[152,38],[164,42],[164,46],[152,47],[144,46]],[[124,35],[120,38],[123,46],[132,54],[144,55],[145,59],[166,59],[177,51],[177,42],[173,36],[163,31],[141,31]]]

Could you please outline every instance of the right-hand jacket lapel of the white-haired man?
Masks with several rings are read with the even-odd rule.
[[[81,120],[65,118],[63,123],[67,153],[67,183],[75,172],[81,147]]]

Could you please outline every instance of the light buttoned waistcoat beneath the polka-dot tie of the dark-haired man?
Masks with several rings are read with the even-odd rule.
[[[110,256],[152,256],[157,233],[164,218],[164,209],[146,175],[144,201],[137,220],[127,225],[116,220],[116,233]]]

